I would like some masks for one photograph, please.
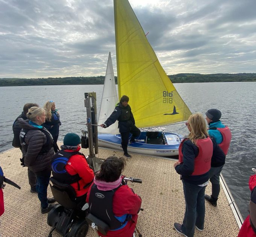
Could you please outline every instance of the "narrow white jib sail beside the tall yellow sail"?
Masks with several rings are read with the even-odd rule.
[[[112,65],[111,54],[109,52],[108,65],[106,70],[105,82],[102,92],[100,113],[98,116],[98,124],[104,124],[106,119],[111,115],[115,109],[115,105],[118,102],[117,89],[115,87],[115,76]],[[108,128],[98,127],[98,131],[101,133],[119,134],[118,121],[109,126]]]

